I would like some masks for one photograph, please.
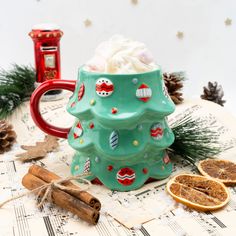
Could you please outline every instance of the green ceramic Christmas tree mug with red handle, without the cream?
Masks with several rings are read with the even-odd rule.
[[[48,124],[41,116],[41,96],[52,89],[73,92],[67,111],[76,117],[71,128]],[[172,172],[166,148],[174,134],[166,117],[174,103],[160,69],[138,74],[104,74],[79,70],[78,80],[50,80],[32,94],[31,115],[44,132],[68,138],[76,150],[71,173],[90,172],[112,190],[129,191],[149,178]]]

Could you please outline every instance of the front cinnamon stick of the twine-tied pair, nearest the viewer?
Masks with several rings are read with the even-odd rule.
[[[44,184],[47,183],[30,173],[26,174],[22,179],[22,185],[29,190],[36,189]],[[41,195],[43,194],[41,193]],[[97,224],[100,215],[99,212],[78,198],[56,188],[52,189],[51,197],[52,202],[61,208],[72,212],[90,224]]]

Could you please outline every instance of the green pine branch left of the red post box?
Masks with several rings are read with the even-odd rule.
[[[13,64],[0,70],[0,119],[5,119],[29,99],[34,91],[35,70],[31,66]]]

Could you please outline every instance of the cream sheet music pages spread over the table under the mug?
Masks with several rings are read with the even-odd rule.
[[[65,99],[43,102],[41,113],[46,120],[63,127],[72,125],[74,118],[66,111]],[[236,161],[235,117],[225,109],[211,102],[185,101],[168,121],[170,126],[186,114],[200,117],[214,126],[219,133],[225,151],[220,158]],[[18,143],[13,150],[0,155],[0,201],[17,196],[26,190],[21,179],[31,163],[15,161],[15,154],[21,153],[21,144],[34,144],[43,140],[44,133],[33,123],[26,103],[17,112],[11,123],[18,134]],[[60,139],[57,152],[49,153],[37,164],[56,172],[62,177],[70,175],[73,149],[66,140]],[[197,169],[183,160],[174,161],[175,175],[179,172],[197,173]],[[169,178],[168,178],[169,179]],[[131,192],[110,191],[104,186],[93,185],[89,192],[102,203],[101,218],[96,226],[81,221],[69,212],[45,203],[38,210],[35,196],[15,200],[0,209],[0,236],[149,236],[149,235],[236,235],[236,187],[230,188],[231,201],[217,212],[199,213],[176,203],[165,191],[168,179],[149,183]]]

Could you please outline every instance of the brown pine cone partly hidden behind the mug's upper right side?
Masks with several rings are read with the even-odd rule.
[[[184,72],[164,73],[165,86],[168,93],[175,104],[183,102],[182,93],[179,92],[183,88],[183,80],[185,79]]]

